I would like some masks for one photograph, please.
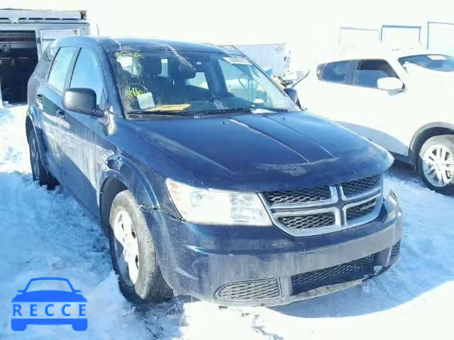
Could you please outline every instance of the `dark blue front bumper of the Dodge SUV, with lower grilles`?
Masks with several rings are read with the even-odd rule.
[[[194,225],[160,211],[145,217],[167,283],[220,305],[284,305],[357,285],[392,266],[402,238],[392,199],[372,222],[311,237],[278,227]]]

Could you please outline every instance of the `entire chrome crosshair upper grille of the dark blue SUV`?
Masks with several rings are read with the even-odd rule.
[[[377,218],[382,207],[382,176],[336,186],[266,191],[260,194],[272,221],[288,234],[337,232]]]

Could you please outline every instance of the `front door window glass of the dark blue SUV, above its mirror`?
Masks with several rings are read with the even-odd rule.
[[[85,48],[80,50],[72,72],[70,87],[92,89],[96,92],[96,103],[98,106],[103,106],[104,76],[101,64],[92,51]]]

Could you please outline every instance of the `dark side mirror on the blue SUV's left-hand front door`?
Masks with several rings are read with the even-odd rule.
[[[96,108],[96,93],[92,89],[67,89],[63,94],[63,108],[95,117],[104,116]]]

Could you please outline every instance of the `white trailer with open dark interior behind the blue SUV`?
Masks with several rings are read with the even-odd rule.
[[[28,78],[45,47],[68,35],[89,35],[86,11],[0,9],[0,97],[26,101]]]

